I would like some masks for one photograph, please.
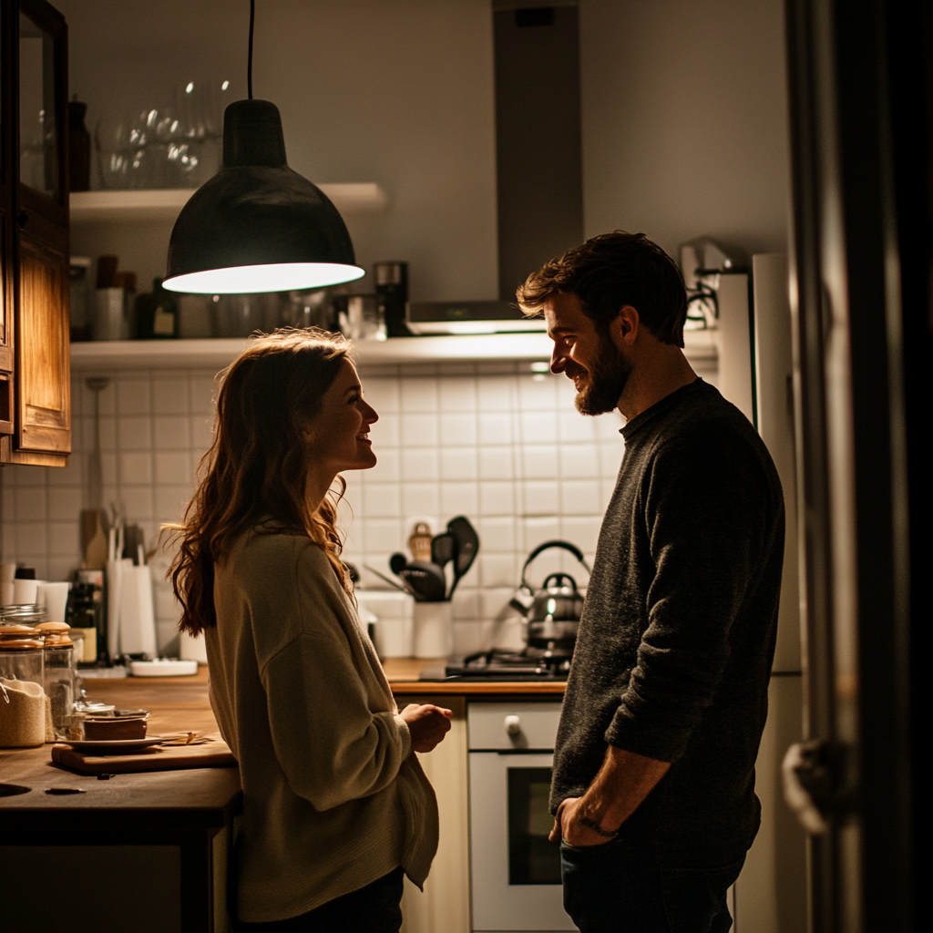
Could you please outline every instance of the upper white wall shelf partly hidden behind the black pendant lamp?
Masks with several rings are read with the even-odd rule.
[[[389,205],[375,182],[318,185],[341,214],[378,214]],[[174,220],[194,194],[194,188],[151,191],[75,191],[71,195],[71,222],[115,220]]]

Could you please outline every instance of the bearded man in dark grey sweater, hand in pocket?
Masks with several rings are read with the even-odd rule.
[[[626,419],[554,753],[564,906],[583,933],[727,931],[759,826],[780,482],[681,352],[683,281],[644,234],[595,237],[518,299],[544,313],[578,411]]]

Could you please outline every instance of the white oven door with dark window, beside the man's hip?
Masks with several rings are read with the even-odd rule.
[[[576,930],[548,842],[550,752],[469,753],[474,930]]]

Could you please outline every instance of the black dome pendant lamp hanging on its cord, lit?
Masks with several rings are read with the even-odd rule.
[[[223,166],[175,221],[162,282],[171,291],[292,291],[365,274],[337,208],[288,168],[278,107],[253,100],[254,18],[250,0],[249,99],[227,107]]]

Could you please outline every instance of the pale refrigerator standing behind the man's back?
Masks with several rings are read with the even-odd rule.
[[[784,489],[787,535],[769,712],[756,764],[761,828],[731,891],[734,933],[805,933],[806,841],[784,801],[781,761],[801,741],[801,607],[787,256],[761,254],[717,289],[717,387],[768,446]]]

